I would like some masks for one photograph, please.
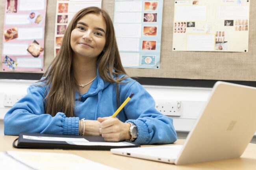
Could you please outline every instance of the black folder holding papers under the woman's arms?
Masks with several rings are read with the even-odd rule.
[[[24,138],[25,137],[25,138]],[[89,142],[78,143],[63,141],[51,141],[52,137],[61,138],[75,138],[76,139],[86,139]],[[37,140],[40,139],[40,140]],[[47,140],[45,140],[47,139]],[[17,146],[15,142],[17,142]],[[73,139],[72,139],[73,140]],[[94,142],[97,142],[94,144]],[[37,149],[72,149],[72,150],[110,150],[111,148],[132,148],[140,147],[139,144],[133,143],[131,141],[122,141],[119,143],[120,146],[116,146],[115,142],[107,143],[101,136],[76,136],[76,135],[53,135],[45,133],[20,133],[19,138],[13,141],[13,147],[15,148],[37,148]],[[84,145],[85,144],[85,145]],[[89,145],[87,145],[89,144]]]

